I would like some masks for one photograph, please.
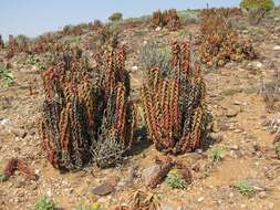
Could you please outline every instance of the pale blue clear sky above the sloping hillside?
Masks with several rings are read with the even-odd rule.
[[[239,4],[239,0],[1,0],[0,34],[6,39],[9,34],[34,36],[65,24],[106,20],[114,11],[131,18],[156,9],[204,8],[207,2],[212,7]]]

